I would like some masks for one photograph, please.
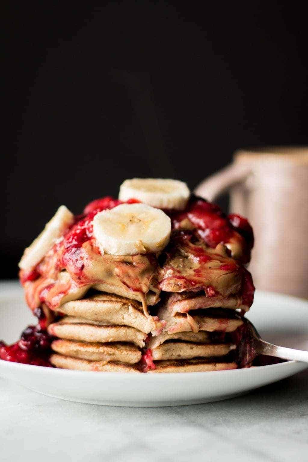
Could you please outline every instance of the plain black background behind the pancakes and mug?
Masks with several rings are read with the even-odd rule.
[[[238,147],[308,144],[300,3],[48,3],[2,6],[1,277],[62,203],[133,176],[193,188]]]

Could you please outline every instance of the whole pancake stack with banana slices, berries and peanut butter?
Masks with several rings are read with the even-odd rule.
[[[170,179],[133,178],[74,216],[59,207],[20,280],[52,365],[85,371],[235,369],[254,285],[254,236]]]

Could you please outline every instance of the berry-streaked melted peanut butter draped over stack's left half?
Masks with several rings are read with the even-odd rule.
[[[66,301],[83,298],[87,290],[94,287],[122,297],[130,298],[133,294],[133,299],[141,301],[143,312],[149,317],[145,295],[155,276],[156,265],[155,259],[152,261],[143,254],[101,255],[93,239],[72,254],[66,253],[61,242],[49,250],[39,264],[39,277],[24,283],[27,303],[32,310],[40,306],[44,291],[44,304],[57,310]]]

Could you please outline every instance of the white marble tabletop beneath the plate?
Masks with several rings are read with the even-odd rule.
[[[0,378],[0,461],[307,461],[308,370],[228,401],[104,407]]]

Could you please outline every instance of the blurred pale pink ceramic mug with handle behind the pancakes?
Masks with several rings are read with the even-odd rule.
[[[215,201],[226,190],[230,212],[254,228],[256,287],[308,298],[308,147],[237,151],[195,193]]]

